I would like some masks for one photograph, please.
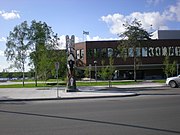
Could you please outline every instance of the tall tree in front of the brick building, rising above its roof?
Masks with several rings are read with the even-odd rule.
[[[142,24],[134,19],[132,23],[126,23],[123,25],[125,27],[125,32],[119,34],[119,36],[125,40],[120,41],[118,46],[124,60],[130,55],[133,57],[134,63],[134,81],[136,81],[136,70],[138,65],[138,60],[140,57],[140,40],[149,40],[150,34],[142,28]]]

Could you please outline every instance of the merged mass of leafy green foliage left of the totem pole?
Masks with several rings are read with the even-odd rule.
[[[35,80],[47,80],[55,75],[55,62],[60,63],[60,74],[65,76],[66,53],[58,50],[59,38],[45,22],[33,20],[31,25],[24,21],[14,27],[7,38],[5,55],[13,67],[24,72],[26,59],[35,72]]]

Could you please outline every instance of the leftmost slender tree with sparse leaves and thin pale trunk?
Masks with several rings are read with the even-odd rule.
[[[7,37],[6,50],[4,52],[7,60],[13,63],[11,67],[17,68],[22,72],[23,86],[25,63],[29,55],[28,50],[30,47],[28,33],[29,27],[27,21],[15,26],[13,31],[10,31],[10,34]]]

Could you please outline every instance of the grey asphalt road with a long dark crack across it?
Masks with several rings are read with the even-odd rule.
[[[140,95],[104,99],[2,102],[0,134],[180,134],[180,88],[134,91],[138,91]]]

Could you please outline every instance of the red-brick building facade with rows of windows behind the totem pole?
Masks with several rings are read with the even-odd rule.
[[[141,40],[140,47],[136,48],[138,58],[138,79],[164,78],[163,61],[168,55],[170,62],[176,61],[177,74],[180,73],[180,39]],[[109,58],[114,59],[115,79],[133,79],[134,56],[133,49],[125,49],[124,60],[118,47],[121,41],[86,41],[75,44],[76,66],[84,70],[91,67],[92,72],[100,70],[102,60],[109,65]]]

